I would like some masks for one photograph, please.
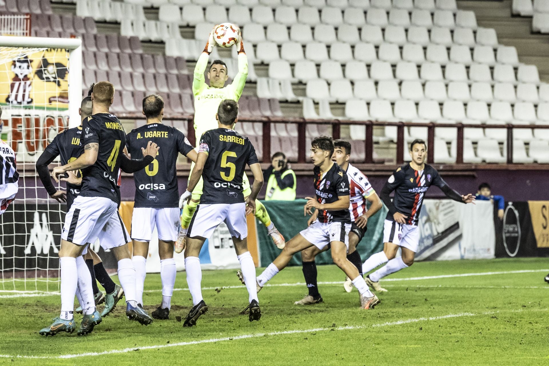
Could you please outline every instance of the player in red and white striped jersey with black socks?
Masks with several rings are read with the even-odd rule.
[[[362,237],[366,233],[368,218],[379,211],[383,204],[376,191],[372,188],[372,185],[368,182],[368,178],[366,178],[358,168],[349,164],[351,144],[344,140],[334,140],[334,147],[332,160],[347,173],[347,178],[349,179],[349,215],[351,216],[352,225],[351,232],[349,233],[349,252],[347,260],[354,264],[360,275],[362,275],[362,262],[360,254],[358,254],[358,251],[356,250],[356,246],[360,243]],[[369,201],[371,204],[369,210],[366,207],[366,201]],[[308,225],[316,221],[317,213],[318,210],[311,216],[307,222]],[[323,250],[318,249],[316,246],[312,246],[301,251],[303,275],[305,276],[309,294],[300,301],[296,301],[296,305],[310,305],[323,301],[320,292],[318,292],[315,257],[320,252],[328,249],[329,245],[324,247]],[[351,292],[352,284],[349,278],[345,280],[344,287],[347,292]]]

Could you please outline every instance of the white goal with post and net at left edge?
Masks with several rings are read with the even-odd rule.
[[[66,209],[48,198],[35,164],[60,131],[80,123],[80,44],[71,38],[0,36],[0,136],[15,151],[19,172],[19,192],[0,215],[1,291],[59,289]]]

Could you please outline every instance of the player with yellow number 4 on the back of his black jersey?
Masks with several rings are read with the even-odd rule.
[[[86,244],[97,238],[100,232],[109,235],[111,230],[124,226],[117,214],[119,188],[116,178],[119,168],[122,167],[124,171],[140,170],[150,164],[158,153],[158,148],[153,143],[146,150],[143,149],[143,155],[146,155],[144,159],[130,160],[123,153],[126,145],[124,128],[116,116],[109,113],[113,97],[114,87],[111,83],[101,81],[94,85],[91,95],[93,115],[87,117],[82,125],[84,153],[64,166],[55,167],[52,172],[55,181],[59,182],[58,176],[64,176],[68,171],[81,170],[82,187],[80,195],[75,198],[65,216],[65,225],[61,232],[61,314],[54,319],[52,325],[40,331],[42,335],[74,331],[74,296],[78,281],[81,281],[81,288],[92,287],[87,267],[78,266],[76,258],[81,255]],[[127,241],[113,242],[111,248],[119,260],[118,276],[128,303],[126,315],[142,324],[149,324],[152,319],[135,301],[135,269],[130,260]],[[93,296],[91,301],[85,301],[92,303]],[[78,333],[87,334],[100,322],[99,312],[85,313]]]

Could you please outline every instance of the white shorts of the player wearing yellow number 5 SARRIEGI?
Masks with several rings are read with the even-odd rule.
[[[215,228],[225,222],[231,237],[240,240],[248,237],[248,222],[246,221],[246,204],[199,204],[194,212],[187,237],[203,237],[209,239]]]

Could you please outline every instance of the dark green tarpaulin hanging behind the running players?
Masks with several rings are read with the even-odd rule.
[[[286,242],[307,227],[309,216],[303,216],[303,206],[306,200],[298,199],[295,201],[261,201],[267,208],[271,220],[275,226],[284,235]],[[368,230],[362,241],[358,244],[358,252],[365,261],[370,255],[383,250],[383,222],[387,209],[385,206],[379,210],[376,215],[368,219]],[[261,267],[267,267],[280,253],[271,238],[267,235],[265,226],[257,221],[257,238],[259,239],[259,252],[261,258]],[[332,256],[330,251],[321,253],[316,257],[317,264],[331,264]],[[297,253],[292,258],[290,266],[301,266],[301,254]]]

